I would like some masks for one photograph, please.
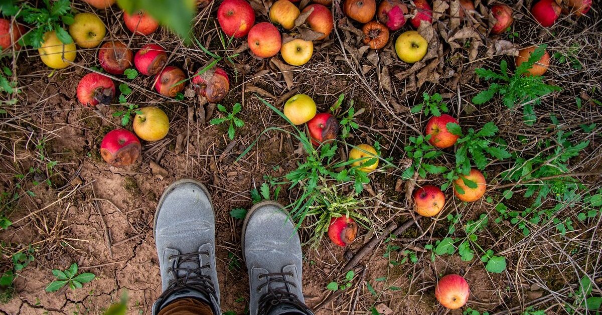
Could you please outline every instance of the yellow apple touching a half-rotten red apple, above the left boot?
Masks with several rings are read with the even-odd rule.
[[[142,140],[157,141],[167,136],[169,118],[161,108],[147,106],[139,109],[142,113],[134,117],[134,133]]]

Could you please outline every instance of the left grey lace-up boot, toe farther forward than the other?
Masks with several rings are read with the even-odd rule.
[[[194,179],[181,179],[163,192],[154,224],[163,290],[152,307],[181,298],[196,298],[214,314],[220,310],[216,269],[216,222],[209,192]]]

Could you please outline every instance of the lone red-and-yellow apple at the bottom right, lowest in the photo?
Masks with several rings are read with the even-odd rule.
[[[470,287],[461,275],[442,276],[435,287],[435,298],[450,310],[463,307],[469,296]]]

